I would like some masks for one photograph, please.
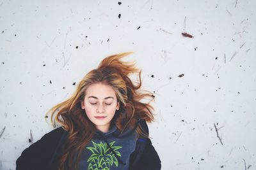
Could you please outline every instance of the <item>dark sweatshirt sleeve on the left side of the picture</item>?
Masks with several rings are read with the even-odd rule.
[[[45,134],[26,148],[16,160],[16,170],[47,169],[61,138],[61,127]]]

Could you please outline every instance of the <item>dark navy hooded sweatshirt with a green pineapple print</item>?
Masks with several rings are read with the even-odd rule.
[[[145,120],[138,121],[138,123],[143,131],[148,133]],[[115,127],[106,134],[97,132],[92,140],[94,144],[90,143],[84,148],[84,160],[79,162],[80,168],[87,169],[91,164],[90,169],[93,169],[93,166],[95,167],[97,166],[95,164],[98,164],[98,167],[95,167],[98,170],[100,168],[101,170],[127,169],[129,162],[129,170],[160,170],[161,160],[150,139],[139,136],[138,139],[135,138],[136,143],[131,142],[134,139],[133,132],[136,133],[134,129],[120,133],[116,131]],[[65,144],[67,136],[68,132],[62,127],[45,134],[21,153],[16,161],[16,170],[56,170],[62,152],[61,148]],[[126,140],[129,142],[126,143]],[[99,154],[104,152],[105,154]],[[86,157],[86,154],[90,157]],[[131,154],[130,157],[129,154]]]

